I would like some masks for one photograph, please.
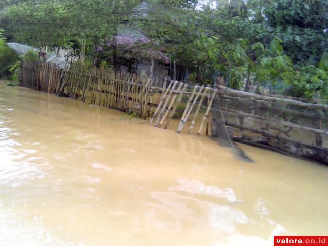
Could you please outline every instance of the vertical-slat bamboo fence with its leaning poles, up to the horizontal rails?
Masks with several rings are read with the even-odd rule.
[[[63,69],[50,63],[24,61],[21,69],[22,86],[129,112],[143,119],[150,117],[150,124],[155,122],[154,125],[159,128],[168,128],[175,113],[182,110],[176,130],[178,133],[193,113],[189,133],[195,126],[196,117],[199,117],[201,124],[197,135],[201,134],[203,128],[208,135],[210,108],[217,92],[209,86],[189,86],[187,83],[164,79],[159,83],[163,86],[159,88],[152,86],[155,78],[101,67],[86,68],[80,64]],[[161,95],[157,103],[152,102],[155,93]],[[204,110],[201,111],[201,108]]]

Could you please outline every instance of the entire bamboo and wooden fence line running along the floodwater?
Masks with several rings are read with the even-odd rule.
[[[34,90],[129,112],[142,119],[149,117],[149,124],[158,128],[167,129],[178,115],[177,133],[184,128],[191,133],[197,125],[197,136],[203,130],[209,135],[211,129],[212,136],[219,137],[222,132],[213,130],[216,122],[221,124],[217,129],[228,129],[227,134],[236,141],[328,163],[326,104],[170,79],[154,83],[155,78],[145,75],[80,64],[63,69],[24,61],[20,80],[22,86]],[[152,99],[155,94],[157,101]],[[300,137],[304,133],[306,137]]]

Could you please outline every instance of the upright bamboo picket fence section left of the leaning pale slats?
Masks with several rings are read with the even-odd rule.
[[[24,61],[22,86],[131,112],[146,119],[153,79],[136,74],[74,65],[64,69],[50,63]]]

